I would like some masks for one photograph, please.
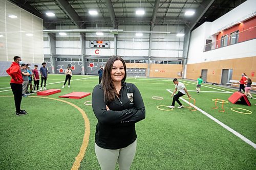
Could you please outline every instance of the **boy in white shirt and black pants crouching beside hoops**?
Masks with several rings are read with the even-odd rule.
[[[191,98],[191,95],[188,94],[187,89],[185,87],[185,85],[181,82],[178,82],[178,79],[174,79],[173,80],[174,84],[175,84],[175,90],[174,93],[170,96],[171,98],[174,96],[173,99],[173,103],[171,106],[168,106],[169,108],[175,108],[175,102],[177,102],[180,106],[178,107],[179,109],[183,108],[184,106],[180,103],[179,98],[182,95],[185,95],[185,93],[187,93],[188,98]],[[178,90],[178,93],[176,93],[176,91]],[[175,95],[174,95],[175,94]]]

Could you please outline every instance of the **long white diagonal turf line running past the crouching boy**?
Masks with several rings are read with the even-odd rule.
[[[170,93],[173,94],[172,91],[167,90]],[[256,144],[253,143],[252,141],[250,141],[249,139],[247,139],[245,136],[241,135],[240,133],[238,133],[237,131],[233,130],[232,128],[228,127],[227,125],[223,124],[222,122],[220,122],[220,120],[218,120],[217,118],[211,116],[210,114],[206,113],[205,111],[203,111],[202,109],[198,108],[197,106],[194,106],[193,104],[187,102],[185,99],[183,99],[181,97],[181,100],[186,102],[188,105],[196,108],[198,111],[200,111],[201,113],[203,113],[204,115],[206,115],[207,117],[209,117],[210,119],[214,120],[214,122],[216,122],[217,124],[219,124],[220,126],[222,126],[223,128],[225,128],[226,130],[228,130],[229,132],[233,133],[234,135],[236,135],[237,137],[239,137],[240,139],[242,139],[243,141],[245,141],[247,144],[251,145],[254,149],[256,149]]]

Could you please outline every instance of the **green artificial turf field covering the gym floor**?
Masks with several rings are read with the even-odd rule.
[[[71,88],[62,89],[64,80],[64,75],[50,75],[47,88],[61,92],[23,98],[22,109],[28,114],[15,116],[10,77],[0,77],[1,169],[100,169],[94,153],[97,119],[92,107],[84,104],[92,95],[58,98],[73,91],[92,92],[98,77],[74,75]],[[249,99],[250,107],[234,105],[226,101],[237,89],[203,84],[197,94],[196,82],[180,81],[195,99],[197,111],[178,109],[177,103],[170,111],[164,107],[172,102],[172,79],[126,79],[139,88],[146,107],[146,118],[136,124],[137,152],[131,169],[255,169],[256,100]],[[218,109],[212,109],[213,99],[224,100],[225,112],[219,112],[221,100]]]

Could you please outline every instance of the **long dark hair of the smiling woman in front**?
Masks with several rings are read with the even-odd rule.
[[[119,56],[112,56],[107,62],[104,67],[103,75],[102,75],[102,89],[104,92],[104,101],[106,103],[109,103],[115,99],[115,96],[118,95],[116,88],[114,86],[114,83],[111,79],[111,71],[113,64],[116,60],[120,60],[123,63],[124,67],[124,77],[122,79],[122,82],[126,79],[126,65],[123,59]]]

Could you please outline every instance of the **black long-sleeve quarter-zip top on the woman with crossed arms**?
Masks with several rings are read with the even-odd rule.
[[[136,138],[135,123],[145,118],[145,106],[139,89],[132,83],[122,83],[119,98],[104,102],[102,84],[93,89],[92,107],[98,119],[95,142],[104,149],[121,149]],[[106,110],[108,105],[110,110]]]

